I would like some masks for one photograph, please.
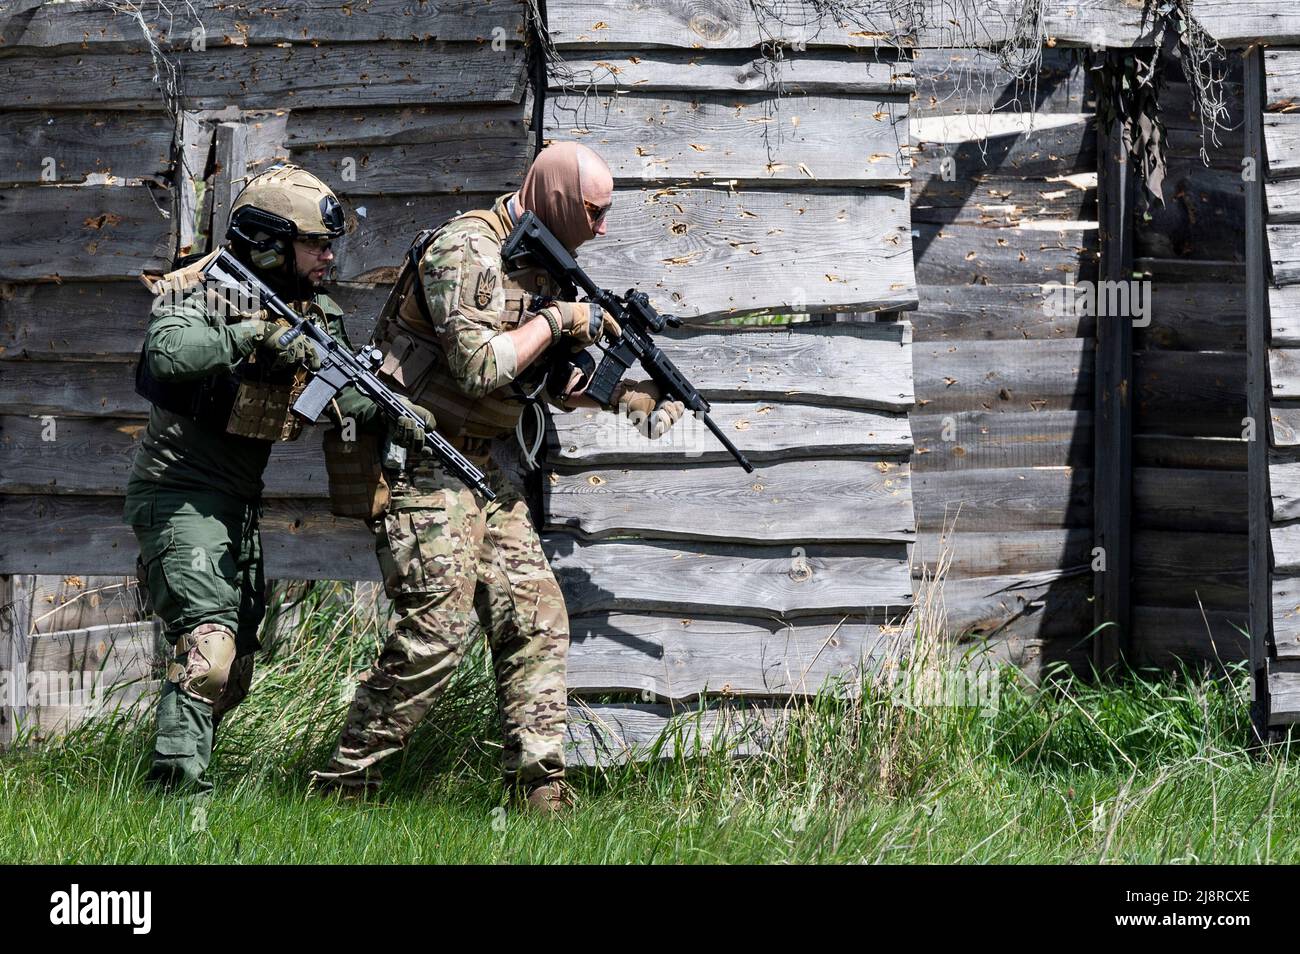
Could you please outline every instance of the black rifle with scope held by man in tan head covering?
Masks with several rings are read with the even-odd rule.
[[[681,318],[673,315],[659,315],[644,291],[628,289],[628,294],[620,296],[599,287],[573,260],[559,239],[551,234],[551,230],[532,212],[523,214],[519,225],[506,239],[506,244],[502,246],[502,259],[511,268],[519,266],[524,259],[532,259],[534,264],[546,269],[560,286],[560,298],[573,302],[577,300],[577,292],[582,291],[589,302],[601,305],[619,322],[623,334],[611,341],[608,347],[601,346],[604,357],[601,359],[592,374],[592,382],[586,386],[585,394],[589,398],[602,407],[608,407],[614,398],[615,386],[627,374],[633,361],[640,361],[664,399],[680,400],[694,411],[723,447],[745,468],[745,473],[754,472],[754,465],[745,459],[740,448],[708,416],[708,402],[696,390],[694,385],[686,381],[686,376],[650,337],[662,333],[666,326],[680,328]]]

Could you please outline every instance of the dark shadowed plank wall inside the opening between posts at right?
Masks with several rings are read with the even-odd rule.
[[[1150,324],[1134,328],[1132,658],[1238,662],[1248,646],[1245,183],[1240,57],[1232,127],[1200,157],[1182,69],[1165,64],[1164,204],[1138,185],[1136,274]]]

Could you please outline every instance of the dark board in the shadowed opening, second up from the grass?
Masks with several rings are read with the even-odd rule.
[[[1247,603],[1247,534],[1135,529],[1134,604],[1240,611]]]

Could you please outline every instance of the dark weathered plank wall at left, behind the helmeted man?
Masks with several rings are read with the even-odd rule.
[[[136,276],[164,269],[195,231],[212,231],[190,221],[188,175],[209,166],[208,188],[225,190],[218,217],[276,157],[330,181],[348,208],[339,298],[364,339],[386,291],[377,282],[416,222],[510,188],[530,147],[517,0],[436,14],[398,0],[364,10],[317,0],[278,10],[195,4],[150,27],[178,71],[181,130],[134,19],[94,3],[0,13],[0,112],[10,133],[0,143],[0,572],[13,573],[0,663],[53,669],[75,658],[131,682],[112,697],[127,702],[156,675],[143,651],[153,625],[136,623],[135,539],[121,522],[147,417],[131,383],[150,308]],[[209,156],[220,121],[239,134],[239,153]],[[173,140],[188,175],[176,169]],[[317,442],[276,451],[270,574],[374,576],[364,528],[321,516]],[[84,576],[91,568],[122,576]],[[14,715],[0,712],[0,743]],[[42,706],[27,716],[31,728],[57,732],[75,714]]]

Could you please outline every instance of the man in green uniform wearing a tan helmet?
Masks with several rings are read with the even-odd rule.
[[[342,309],[320,290],[330,243],[342,233],[343,209],[329,187],[281,165],[240,192],[228,239],[295,311],[346,341]],[[213,255],[153,285],[136,367],[136,390],[152,409],[125,507],[140,545],[140,581],[174,646],[150,777],[199,790],[211,788],[204,771],[216,728],[252,678],[265,610],[261,474],[272,445],[298,437],[290,406],[308,369],[318,367],[306,338],[281,344],[285,326],[266,321],[256,302],[202,279]],[[352,389],[339,395],[335,412],[360,430],[384,426]]]

